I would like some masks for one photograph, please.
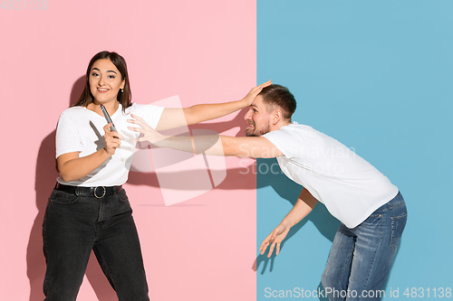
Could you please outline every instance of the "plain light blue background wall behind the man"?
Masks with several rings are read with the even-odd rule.
[[[408,204],[387,299],[453,287],[452,15],[450,0],[257,0],[257,82],[289,88],[295,121],[355,149]],[[274,164],[258,160],[257,247],[302,189]],[[338,225],[320,203],[279,256],[258,256],[257,300],[316,290]]]

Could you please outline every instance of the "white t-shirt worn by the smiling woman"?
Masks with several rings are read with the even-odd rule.
[[[118,133],[124,140],[121,140],[120,147],[115,154],[96,168],[91,174],[79,180],[65,182],[60,176],[59,183],[73,186],[113,186],[126,183],[130,170],[130,162],[135,152],[137,138],[140,133],[128,129],[132,124],[127,122],[130,113],[143,118],[150,127],[156,128],[164,108],[153,105],[132,106],[122,111],[122,106],[111,115],[111,121]],[[66,153],[80,152],[79,157],[92,155],[105,146],[103,127],[107,124],[105,118],[85,107],[72,107],[63,111],[58,121],[56,130],[56,157]]]

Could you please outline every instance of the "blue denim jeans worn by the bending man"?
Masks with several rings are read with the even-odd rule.
[[[381,300],[406,225],[400,193],[359,226],[338,229],[322,282],[330,301]]]

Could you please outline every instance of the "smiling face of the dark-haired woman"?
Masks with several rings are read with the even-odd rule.
[[[89,82],[92,96],[101,104],[116,101],[118,92],[125,84],[125,80],[121,80],[120,71],[109,59],[94,61]]]

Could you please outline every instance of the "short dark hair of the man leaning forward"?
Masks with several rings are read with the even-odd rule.
[[[284,86],[272,84],[261,90],[258,94],[263,96],[265,104],[282,108],[284,118],[291,118],[296,108],[293,93]]]

